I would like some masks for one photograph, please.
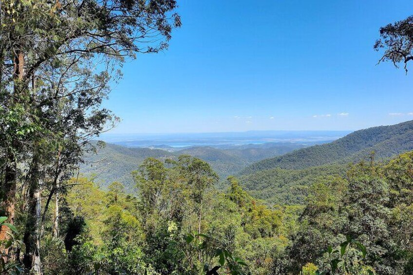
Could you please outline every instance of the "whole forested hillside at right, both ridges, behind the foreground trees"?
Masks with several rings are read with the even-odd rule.
[[[384,160],[413,150],[413,121],[355,131],[331,143],[302,148],[243,169],[240,183],[269,204],[300,204],[308,186],[329,176],[345,176],[349,163]]]

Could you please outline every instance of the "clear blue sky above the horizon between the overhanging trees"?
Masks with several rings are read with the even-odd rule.
[[[114,133],[356,130],[413,119],[407,76],[376,66],[411,0],[178,0],[169,50],[123,67]],[[409,114],[410,113],[410,114]]]

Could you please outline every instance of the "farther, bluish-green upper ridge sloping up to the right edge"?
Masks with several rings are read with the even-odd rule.
[[[302,169],[326,164],[357,162],[375,152],[376,159],[388,158],[413,149],[413,121],[392,126],[362,129],[328,144],[302,148],[265,159],[243,169],[246,175],[271,168]]]

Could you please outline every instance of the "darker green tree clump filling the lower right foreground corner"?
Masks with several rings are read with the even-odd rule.
[[[410,152],[388,164],[361,162],[346,178],[315,183],[287,248],[286,269],[298,272],[312,262],[338,274],[409,274],[412,223],[405,195],[412,190],[412,157]],[[329,247],[328,254],[319,247]]]

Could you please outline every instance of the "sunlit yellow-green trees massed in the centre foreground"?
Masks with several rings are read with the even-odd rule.
[[[68,215],[84,217],[84,228],[70,250],[56,253],[64,270],[45,261],[49,274],[267,274],[295,226],[296,210],[268,208],[233,177],[227,192],[216,191],[211,167],[188,155],[146,159],[133,177],[136,197],[121,183],[101,191],[71,181]]]

